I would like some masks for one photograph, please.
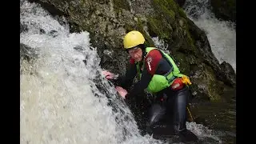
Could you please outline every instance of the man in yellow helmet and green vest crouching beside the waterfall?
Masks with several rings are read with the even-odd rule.
[[[180,73],[168,54],[155,47],[146,47],[144,42],[145,38],[136,30],[126,34],[123,46],[130,55],[126,75],[114,78],[114,74],[106,70],[103,74],[117,84],[115,89],[122,98],[134,97],[144,90],[154,95],[154,103],[148,115],[148,133],[155,136],[177,134],[182,142],[197,141],[197,136],[186,129],[190,79]],[[134,84],[134,89],[127,92],[136,74],[140,80]],[[163,122],[169,125],[163,126]]]

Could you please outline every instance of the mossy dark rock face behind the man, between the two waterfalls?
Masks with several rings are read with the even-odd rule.
[[[236,87],[234,70],[226,62],[219,64],[210,49],[205,32],[195,26],[180,7],[183,1],[30,0],[30,2],[41,3],[53,15],[65,16],[70,25],[70,32],[88,31],[92,46],[97,47],[103,69],[117,74],[125,73],[128,54],[122,49],[122,38],[130,30],[139,30],[146,38],[146,46],[154,46],[152,37],[155,36],[168,45],[167,51],[170,52],[170,56],[174,58],[182,73],[190,77],[191,91],[195,98],[211,102],[227,102],[230,101],[227,98],[233,97]],[[53,31],[54,34],[57,33]],[[226,93],[227,89],[231,92]],[[132,104],[134,102],[135,99],[131,100]],[[138,106],[141,106],[141,109],[136,106],[131,105],[134,114],[142,114],[148,103],[144,99]],[[142,116],[136,118],[138,121],[143,119]]]

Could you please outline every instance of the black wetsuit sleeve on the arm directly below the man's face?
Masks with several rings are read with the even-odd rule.
[[[133,84],[134,77],[136,76],[136,74],[136,65],[130,63],[130,65],[127,67],[126,74],[124,76],[118,76],[118,78],[114,79],[113,82],[115,86],[122,86],[122,88],[127,90]]]

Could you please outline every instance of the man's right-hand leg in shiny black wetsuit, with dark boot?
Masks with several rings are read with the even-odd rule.
[[[172,98],[168,99],[168,104],[173,112],[174,132],[182,138],[182,141],[197,141],[198,138],[195,134],[186,129],[186,106],[190,91],[187,87],[178,90],[174,93]]]

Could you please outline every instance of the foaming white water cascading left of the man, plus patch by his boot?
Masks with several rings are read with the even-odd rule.
[[[21,1],[20,8],[21,23],[28,28],[20,34],[20,42],[38,54],[33,62],[21,62],[22,144],[163,143],[139,134],[129,108],[102,78],[88,32],[70,33],[69,26],[37,4]],[[213,138],[206,127],[187,124],[199,138]]]

